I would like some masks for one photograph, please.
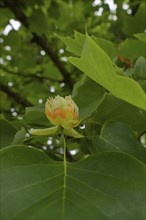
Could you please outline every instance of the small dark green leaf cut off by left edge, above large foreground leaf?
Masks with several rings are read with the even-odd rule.
[[[7,120],[0,120],[0,148],[12,144],[16,134],[16,128]]]

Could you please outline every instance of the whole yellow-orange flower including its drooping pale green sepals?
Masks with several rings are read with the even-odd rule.
[[[46,129],[34,129],[30,131],[32,135],[51,135],[59,132],[59,127],[63,128],[63,133],[82,138],[83,135],[74,130],[80,123],[79,109],[71,96],[65,98],[57,95],[54,99],[49,98],[45,105],[45,113],[48,120],[55,126]]]

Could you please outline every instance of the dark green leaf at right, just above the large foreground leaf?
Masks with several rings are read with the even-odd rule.
[[[131,128],[124,123],[105,123],[100,136],[93,136],[93,144],[97,152],[124,151],[146,163],[146,149],[137,140]]]

